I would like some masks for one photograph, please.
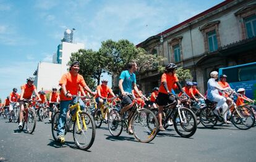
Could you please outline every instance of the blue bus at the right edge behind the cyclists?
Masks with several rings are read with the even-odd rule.
[[[245,95],[250,99],[256,99],[256,62],[236,65],[219,69],[219,75],[227,75],[227,82],[231,88],[243,87]]]

